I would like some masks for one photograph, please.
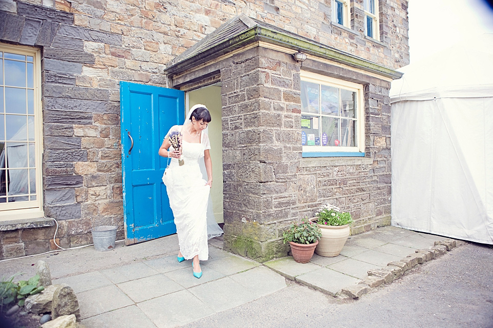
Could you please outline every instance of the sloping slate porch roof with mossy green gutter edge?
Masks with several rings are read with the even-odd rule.
[[[402,73],[354,56],[333,47],[326,46],[304,36],[261,22],[240,14],[221,25],[200,42],[173,59],[164,70],[166,74],[177,75],[206,61],[227,54],[253,42],[267,42],[360,70],[376,73],[387,78],[401,78]]]

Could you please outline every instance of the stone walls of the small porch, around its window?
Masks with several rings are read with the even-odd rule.
[[[322,204],[349,211],[352,234],[390,224],[389,81],[255,48],[221,69],[224,247],[260,261],[286,255],[282,232]],[[300,70],[364,85],[366,154],[301,158]]]

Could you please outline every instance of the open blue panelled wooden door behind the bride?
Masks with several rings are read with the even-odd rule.
[[[158,150],[169,128],[183,124],[184,92],[121,81],[120,117],[125,243],[174,234]]]

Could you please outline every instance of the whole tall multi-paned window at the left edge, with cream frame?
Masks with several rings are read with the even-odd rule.
[[[0,44],[0,218],[42,215],[40,57]]]

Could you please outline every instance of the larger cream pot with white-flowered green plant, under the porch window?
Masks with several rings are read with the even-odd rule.
[[[349,237],[351,214],[341,212],[338,207],[327,204],[310,219],[322,232],[315,253],[320,256],[334,257],[342,251]]]

